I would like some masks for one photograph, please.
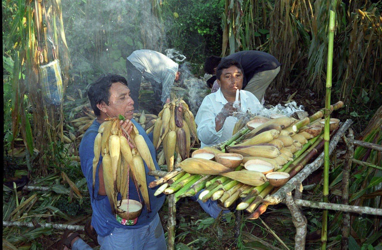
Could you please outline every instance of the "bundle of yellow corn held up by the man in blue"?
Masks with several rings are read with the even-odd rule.
[[[113,213],[124,213],[119,208],[121,204],[117,203],[117,194],[121,193],[122,199],[126,199],[130,172],[134,183],[141,191],[147,210],[151,211],[144,162],[150,170],[155,170],[153,159],[137,128],[133,125],[133,131],[128,135],[120,127],[120,120],[125,119],[121,115],[119,118],[110,118],[99,127],[99,133],[94,141],[93,193],[95,173],[101,155],[106,194]]]

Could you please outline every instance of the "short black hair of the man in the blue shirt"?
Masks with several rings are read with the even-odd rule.
[[[127,86],[125,77],[110,73],[100,76],[100,78],[90,85],[89,90],[87,91],[87,96],[89,97],[90,105],[96,116],[101,114],[97,104],[105,102],[105,104],[109,105],[109,90],[113,83],[122,83]]]

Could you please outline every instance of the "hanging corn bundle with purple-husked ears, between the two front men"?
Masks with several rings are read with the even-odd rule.
[[[191,144],[199,143],[194,115],[186,102],[181,99],[175,99],[163,106],[153,131],[155,148],[158,149],[160,144],[163,145],[163,150],[158,153],[162,157],[159,157],[158,164],[162,165],[166,159],[169,171],[173,169],[175,151],[184,160],[189,156]]]

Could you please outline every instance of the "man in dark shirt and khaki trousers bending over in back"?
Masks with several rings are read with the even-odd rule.
[[[281,63],[273,55],[266,52],[245,50],[227,57],[217,57],[215,55],[208,57],[204,63],[204,71],[216,75],[217,65],[227,59],[240,62],[244,70],[243,89],[254,94],[261,104],[264,104],[265,90],[280,71]],[[211,83],[215,79],[216,77],[211,77],[208,81]],[[207,82],[207,84],[210,83]]]

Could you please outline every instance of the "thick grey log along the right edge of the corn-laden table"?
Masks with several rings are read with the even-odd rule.
[[[346,130],[350,127],[352,120],[348,119],[345,123],[338,129],[337,133],[333,136],[332,140],[330,140],[329,144],[329,154],[331,154],[337,146],[338,141],[341,136],[345,133]],[[298,183],[303,182],[312,172],[316,171],[322,164],[324,163],[324,152],[317,157],[317,159],[308,164],[301,170],[295,177],[291,178],[285,185],[283,185],[276,193],[268,196],[264,199],[265,204],[275,205],[280,203],[286,196],[287,193],[292,192]]]

